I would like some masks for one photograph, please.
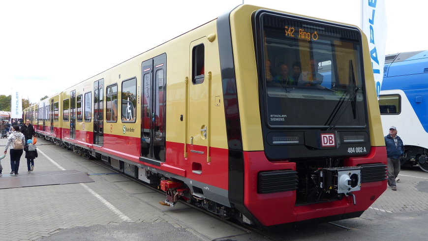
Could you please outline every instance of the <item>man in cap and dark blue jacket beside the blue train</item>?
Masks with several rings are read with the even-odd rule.
[[[404,152],[403,141],[397,136],[397,127],[389,127],[389,134],[385,136],[385,146],[388,157],[388,185],[397,191],[396,177],[400,172],[400,157]]]

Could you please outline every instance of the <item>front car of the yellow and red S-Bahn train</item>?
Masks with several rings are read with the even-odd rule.
[[[61,140],[163,205],[265,227],[358,217],[386,189],[368,53],[355,26],[240,5],[64,90]],[[302,79],[275,82],[293,62]]]

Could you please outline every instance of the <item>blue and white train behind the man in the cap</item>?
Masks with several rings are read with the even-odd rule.
[[[387,55],[384,69],[379,94],[383,126],[397,127],[404,143],[401,165],[428,172],[428,51]]]

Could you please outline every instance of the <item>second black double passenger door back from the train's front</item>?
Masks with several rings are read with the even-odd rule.
[[[104,79],[93,83],[93,144],[103,145]]]

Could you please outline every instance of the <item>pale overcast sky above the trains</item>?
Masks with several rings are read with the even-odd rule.
[[[0,94],[31,102],[128,60],[242,0],[5,0],[0,4]],[[360,0],[245,0],[360,26]],[[427,48],[420,0],[387,0],[386,54]]]

